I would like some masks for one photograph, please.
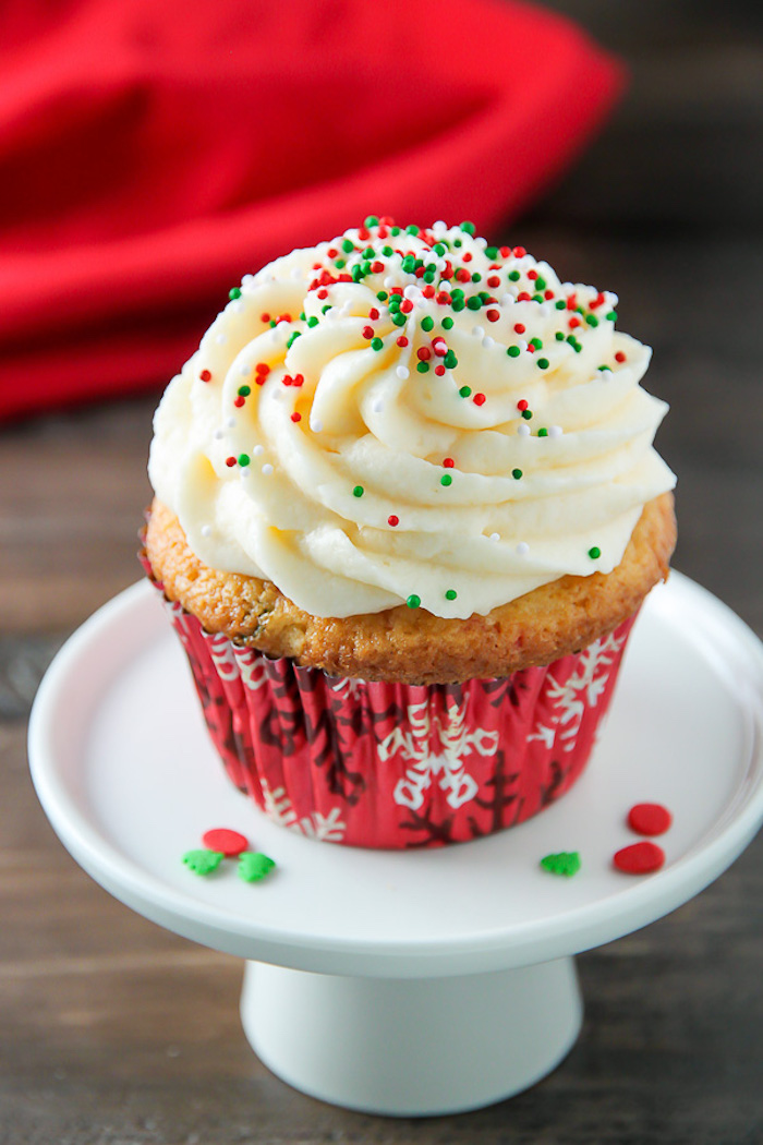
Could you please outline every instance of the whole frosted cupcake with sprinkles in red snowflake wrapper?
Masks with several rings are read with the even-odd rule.
[[[581,773],[675,544],[617,298],[369,216],[246,275],[154,419],[144,566],[230,779],[373,847]]]

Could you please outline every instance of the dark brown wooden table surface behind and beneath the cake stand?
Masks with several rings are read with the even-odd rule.
[[[620,294],[673,406],[659,445],[679,475],[676,567],[763,634],[761,9],[554,7],[621,52],[631,89],[492,237]],[[26,716],[55,649],[138,576],[153,404],[0,432],[0,1145],[763,1140],[763,838],[692,902],[579,958],[585,1028],[551,1076],[422,1121],[291,1090],[244,1039],[237,960],[134,915],[69,858],[32,791]]]

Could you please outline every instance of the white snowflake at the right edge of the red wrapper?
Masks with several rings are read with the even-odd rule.
[[[562,751],[573,751],[587,708],[596,708],[610,678],[610,669],[622,649],[626,634],[602,637],[582,652],[572,676],[561,684],[549,676],[547,696],[554,705],[550,724],[535,725],[528,740],[553,748],[559,740]]]

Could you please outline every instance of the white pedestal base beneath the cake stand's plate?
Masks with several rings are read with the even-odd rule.
[[[464,1113],[550,1073],[580,1033],[574,960],[448,978],[348,978],[247,962],[244,1032],[275,1074],[361,1113]]]

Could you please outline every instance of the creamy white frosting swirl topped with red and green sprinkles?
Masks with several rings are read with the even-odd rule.
[[[468,617],[620,562],[675,484],[651,350],[613,294],[464,227],[367,220],[231,291],[149,465],[206,564],[318,616]]]

